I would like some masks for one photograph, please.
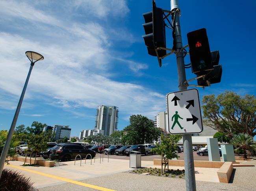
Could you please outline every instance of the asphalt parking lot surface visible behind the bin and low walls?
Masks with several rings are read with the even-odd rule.
[[[197,151],[193,151],[193,155],[194,155],[194,160],[209,160],[208,156],[198,156],[197,155]],[[98,157],[99,155],[96,154],[96,157]],[[184,153],[178,153],[178,156],[180,156],[179,160],[184,160]],[[108,156],[104,156],[104,158],[107,158]],[[129,160],[129,156],[125,156],[125,155],[109,155],[109,158],[115,158],[115,159],[123,159],[123,160]],[[144,161],[153,161],[153,159],[161,159],[160,155],[141,155],[141,160]]]

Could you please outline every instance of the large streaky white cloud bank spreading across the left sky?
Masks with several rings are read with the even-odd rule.
[[[88,3],[90,2],[90,4]],[[15,4],[13,1],[1,2],[2,9]],[[82,5],[83,4],[83,5]],[[84,1],[78,3],[78,7],[93,11],[97,10],[98,16],[110,14],[110,8],[119,7],[114,14],[128,13],[128,7],[124,1]],[[107,5],[108,4],[108,5]],[[4,5],[4,6],[3,6]],[[104,11],[100,11],[106,5]],[[20,10],[17,7],[20,6]],[[4,11],[5,15],[22,17],[31,20],[29,11],[25,11],[26,4],[18,2],[12,8]],[[42,99],[50,104],[63,109],[70,109],[75,115],[81,115],[76,108],[96,108],[98,105],[115,105],[127,115],[140,113],[154,116],[165,107],[165,96],[153,92],[141,85],[118,82],[111,80],[111,69],[116,61],[127,64],[124,67],[135,74],[141,74],[141,69],[147,69],[148,65],[138,63],[128,58],[113,58],[109,49],[113,48],[109,36],[104,27],[96,22],[80,24],[65,23],[65,20],[48,16],[30,5],[35,16],[33,21],[43,24],[59,25],[61,29],[53,28],[53,36],[35,29],[33,40],[26,34],[11,34],[0,32],[0,90],[10,96],[19,96],[29,69],[29,60],[24,55],[25,51],[38,51],[45,59],[35,64],[28,84],[24,100]],[[23,14],[24,13],[24,14]],[[61,24],[65,23],[65,25]],[[44,25],[43,25],[44,26]],[[61,37],[58,37],[60,34]],[[115,71],[116,72],[116,71]],[[8,96],[2,96],[0,107],[14,109],[13,102]],[[28,99],[29,98],[29,99]],[[26,101],[25,101],[26,102]],[[37,114],[40,115],[40,114]]]

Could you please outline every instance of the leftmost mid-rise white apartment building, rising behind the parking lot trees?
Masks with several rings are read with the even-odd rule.
[[[67,138],[70,138],[71,128],[69,126],[63,126],[63,125],[54,125],[54,126],[45,126],[43,131],[52,130],[52,133],[56,133],[55,140],[59,138],[64,138],[67,136]]]

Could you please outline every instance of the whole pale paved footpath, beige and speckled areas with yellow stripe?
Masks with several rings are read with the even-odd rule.
[[[89,163],[80,166],[77,161],[67,162],[67,166],[59,167],[21,167],[21,162],[11,161],[11,166],[5,166],[10,169],[19,170],[27,177],[31,177],[34,186],[39,191],[70,191],[70,190],[102,190],[102,191],[164,191],[164,190],[185,190],[185,180],[179,178],[166,178],[151,175],[137,175],[132,173],[123,173],[130,170],[128,160],[111,159],[108,162],[104,160],[99,163],[99,159],[92,165]],[[254,164],[256,160],[246,162]],[[150,161],[142,161],[145,167],[152,166]],[[160,166],[157,166],[158,168]],[[182,167],[170,167],[179,168]],[[215,180],[216,169],[196,168],[197,190],[232,190],[232,191],[256,191],[256,167],[236,167],[234,168],[234,176],[231,184],[219,183]],[[206,180],[211,182],[203,182],[198,180]],[[69,182],[69,183],[67,183]]]

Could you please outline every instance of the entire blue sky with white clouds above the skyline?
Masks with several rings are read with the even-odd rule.
[[[206,28],[210,49],[220,51],[223,65],[221,83],[198,88],[200,98],[225,90],[255,95],[256,2],[240,2],[180,1],[183,44],[188,32]],[[156,5],[170,9],[169,0]],[[165,95],[178,90],[176,57],[163,59],[160,68],[147,54],[142,14],[151,6],[150,0],[0,1],[0,129],[11,125],[29,50],[45,60],[33,68],[17,126],[69,125],[77,136],[94,128],[98,105],[119,107],[119,129],[132,114],[153,119],[165,111]],[[195,77],[191,69],[186,75]]]

